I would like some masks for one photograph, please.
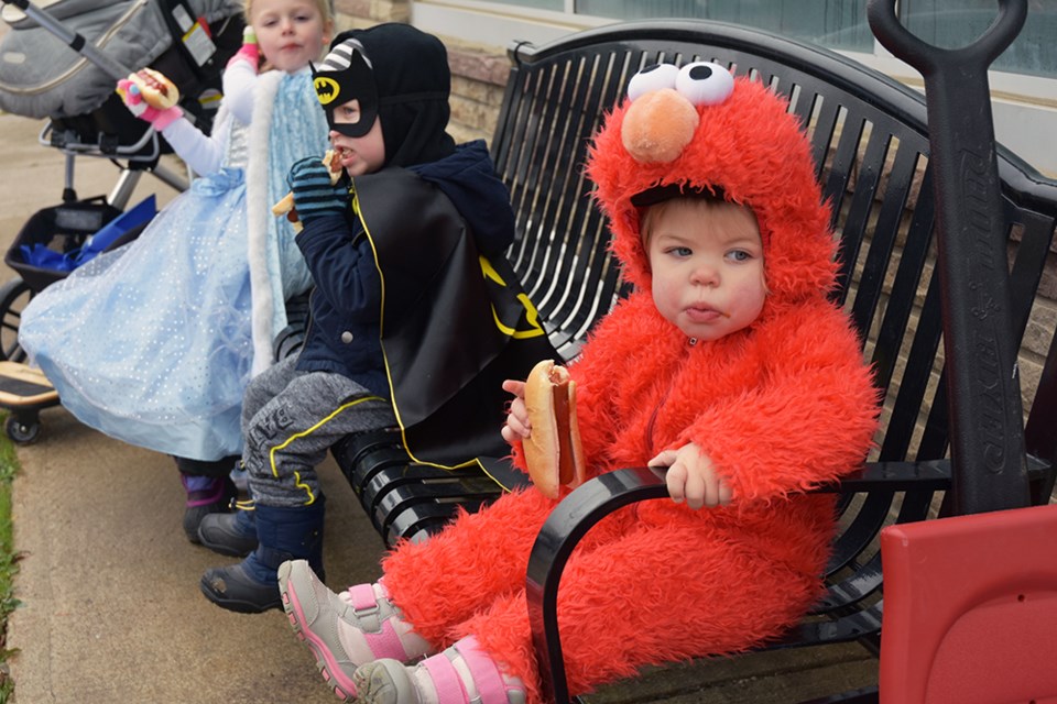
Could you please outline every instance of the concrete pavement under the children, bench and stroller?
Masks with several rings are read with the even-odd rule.
[[[0,248],[30,215],[56,205],[63,157],[36,143],[41,123],[0,114]],[[79,158],[80,196],[107,194],[107,161]],[[144,178],[134,198],[175,191]],[[133,202],[135,200],[133,199]],[[14,276],[0,270],[0,282]],[[187,542],[173,461],[81,426],[62,407],[42,414],[37,443],[19,448],[14,482],[15,580],[22,606],[9,622],[15,702],[333,702],[314,660],[281,612],[241,615],[198,590],[207,568],[231,562]],[[379,575],[381,539],[333,461],[325,562],[340,588]],[[458,585],[453,585],[458,588]],[[603,625],[599,625],[603,627]],[[798,702],[876,681],[858,646],[777,651],[651,671],[607,688],[592,704]]]

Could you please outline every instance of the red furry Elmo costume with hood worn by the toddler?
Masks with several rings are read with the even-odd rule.
[[[683,73],[693,84],[695,72]],[[596,139],[589,174],[638,293],[570,371],[590,473],[696,442],[733,501],[700,510],[649,502],[588,535],[558,604],[574,692],[650,663],[742,650],[797,620],[819,595],[833,521],[830,497],[800,491],[854,468],[875,428],[856,333],[826,298],[833,239],[806,139],[760,84],[711,77],[727,88],[720,99],[705,90],[712,105],[697,107],[682,95],[693,85],[647,82]],[[769,295],[748,328],[695,344],[655,308],[631,199],[668,184],[719,188],[755,212]],[[477,636],[530,702],[541,696],[523,585],[552,506],[534,490],[503,496],[384,562],[391,597],[418,634],[438,648]]]

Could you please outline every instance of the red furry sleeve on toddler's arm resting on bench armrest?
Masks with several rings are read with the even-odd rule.
[[[680,436],[697,442],[735,501],[809,488],[853,470],[876,429],[878,392],[841,312],[805,307],[760,330],[758,388],[710,404]]]

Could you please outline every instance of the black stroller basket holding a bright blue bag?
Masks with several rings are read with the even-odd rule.
[[[156,213],[153,195],[126,212],[102,196],[44,208],[26,220],[4,262],[40,293],[97,254],[134,240]]]

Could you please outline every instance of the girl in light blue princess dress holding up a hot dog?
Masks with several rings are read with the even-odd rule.
[[[244,13],[211,135],[119,81],[133,114],[201,177],[134,242],[43,290],[19,328],[81,422],[176,458],[193,542],[235,494],[242,393],[273,361],[284,301],[312,284],[291,224],[269,206],[291,165],[327,145],[309,62],[329,42],[329,1],[246,0]]]

